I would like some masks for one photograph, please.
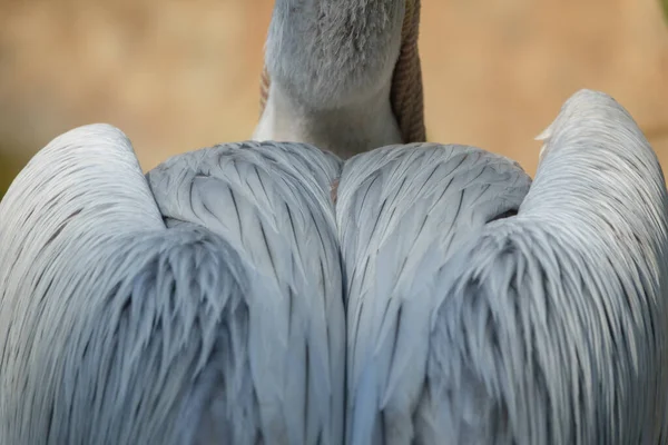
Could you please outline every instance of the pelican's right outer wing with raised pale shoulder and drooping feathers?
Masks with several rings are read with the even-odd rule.
[[[601,93],[576,95],[548,135],[519,215],[487,225],[435,281],[423,431],[452,444],[665,443],[659,164]]]

